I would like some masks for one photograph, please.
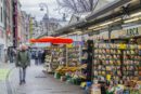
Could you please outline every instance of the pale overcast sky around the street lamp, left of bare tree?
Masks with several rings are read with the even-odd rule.
[[[22,10],[26,11],[28,14],[35,16],[38,21],[42,18],[46,13],[44,11],[40,11],[39,3],[47,3],[49,8],[50,17],[61,18],[59,12],[55,11],[57,9],[57,3],[55,0],[20,0],[22,3]]]

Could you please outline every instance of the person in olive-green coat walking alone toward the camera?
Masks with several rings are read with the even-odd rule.
[[[21,45],[16,55],[16,67],[20,68],[20,84],[26,83],[26,68],[30,65],[29,54],[26,45]]]

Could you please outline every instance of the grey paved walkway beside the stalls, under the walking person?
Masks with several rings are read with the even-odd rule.
[[[61,82],[51,75],[44,75],[42,69],[42,66],[31,65],[27,69],[24,85],[18,85],[18,69],[14,69],[10,76],[13,94],[84,94],[84,90],[79,86]]]

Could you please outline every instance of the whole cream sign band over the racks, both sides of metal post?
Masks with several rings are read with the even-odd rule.
[[[100,31],[99,35],[93,35],[92,39],[95,42],[106,43],[108,42],[108,31]],[[111,32],[112,43],[130,43],[131,40],[137,44],[141,43],[141,26],[132,26]]]

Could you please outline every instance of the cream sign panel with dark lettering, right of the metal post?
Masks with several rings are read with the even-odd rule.
[[[114,30],[111,33],[111,39],[115,43],[130,43],[133,40],[134,43],[140,44],[141,27],[133,26],[124,28],[123,30]]]

